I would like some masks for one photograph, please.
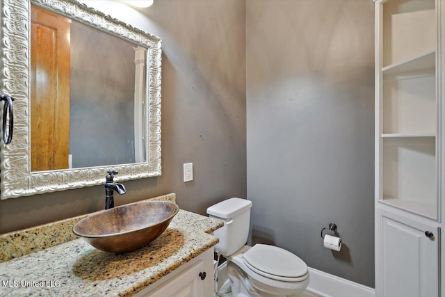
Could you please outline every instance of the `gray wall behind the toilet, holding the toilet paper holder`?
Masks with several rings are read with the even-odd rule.
[[[373,287],[373,1],[246,4],[252,241]],[[341,252],[323,248],[338,225]]]

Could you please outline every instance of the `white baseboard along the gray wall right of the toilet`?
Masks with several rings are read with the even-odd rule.
[[[314,268],[309,269],[307,291],[322,297],[375,297],[373,288]]]

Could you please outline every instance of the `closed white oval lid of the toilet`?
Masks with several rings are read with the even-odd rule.
[[[256,244],[244,253],[247,264],[268,275],[300,278],[307,273],[307,265],[293,253],[266,244]]]

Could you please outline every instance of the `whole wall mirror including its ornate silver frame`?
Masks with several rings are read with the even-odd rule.
[[[75,0],[3,0],[1,199],[161,175],[161,38]]]

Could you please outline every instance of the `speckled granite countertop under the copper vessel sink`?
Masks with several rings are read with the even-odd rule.
[[[209,233],[222,226],[220,220],[180,209],[158,239],[134,252],[102,252],[83,239],[31,252],[0,263],[0,295],[131,296],[215,246],[218,239]],[[3,235],[3,241],[21,240],[16,234]]]

